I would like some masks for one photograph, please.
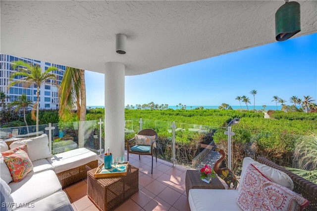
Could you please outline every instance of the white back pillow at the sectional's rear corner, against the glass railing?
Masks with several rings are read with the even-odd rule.
[[[49,139],[47,134],[42,134],[30,139],[14,141],[10,144],[10,148],[13,149],[22,144],[26,144],[28,146],[28,154],[31,161],[52,157],[49,149]]]

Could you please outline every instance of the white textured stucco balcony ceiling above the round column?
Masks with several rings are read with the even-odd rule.
[[[299,2],[296,37],[316,33],[317,1]],[[121,62],[125,75],[138,75],[276,42],[274,14],[284,1],[0,3],[1,53],[100,73]],[[127,36],[125,55],[115,52],[118,33]]]

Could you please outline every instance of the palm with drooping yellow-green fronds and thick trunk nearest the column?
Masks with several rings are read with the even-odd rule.
[[[86,84],[85,70],[66,67],[64,76],[58,90],[59,110],[58,115],[66,120],[77,108],[77,118],[79,119],[78,145],[84,147],[84,123],[86,120]]]

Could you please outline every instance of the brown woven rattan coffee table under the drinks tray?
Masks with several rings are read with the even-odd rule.
[[[134,166],[120,177],[94,178],[96,170],[87,171],[87,195],[99,210],[114,210],[139,191],[139,169]]]

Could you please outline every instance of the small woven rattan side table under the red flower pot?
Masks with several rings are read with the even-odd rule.
[[[210,183],[202,181],[198,170],[186,171],[185,185],[187,197],[190,189],[225,189],[218,177],[211,178]]]

